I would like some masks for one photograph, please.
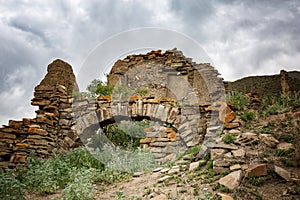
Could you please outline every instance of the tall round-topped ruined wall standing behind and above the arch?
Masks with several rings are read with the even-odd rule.
[[[149,96],[181,101],[194,95],[197,103],[220,98],[223,82],[209,64],[197,64],[177,49],[151,51],[118,60],[108,75],[108,84],[123,84],[136,90],[149,88]],[[213,95],[213,96],[212,96]]]

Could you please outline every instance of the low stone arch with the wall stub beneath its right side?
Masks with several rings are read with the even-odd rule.
[[[112,101],[110,96],[96,100],[78,98],[73,106],[77,132],[85,144],[96,134],[91,134],[90,127],[95,126],[97,129],[121,120],[144,118],[155,122],[155,126],[145,129],[146,138],[140,142],[142,148],[149,149],[162,162],[203,142],[207,128],[215,125],[212,124],[212,113],[217,112],[221,116],[219,112],[222,110],[217,104],[181,107],[170,98],[139,96],[118,102]],[[219,128],[222,127],[215,127]]]

